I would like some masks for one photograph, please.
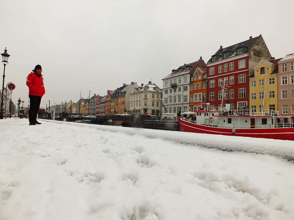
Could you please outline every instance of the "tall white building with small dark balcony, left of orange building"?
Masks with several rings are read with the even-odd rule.
[[[162,79],[162,101],[165,106],[162,116],[179,116],[181,112],[189,111],[190,73],[197,67],[206,67],[202,57],[196,62],[184,64]]]

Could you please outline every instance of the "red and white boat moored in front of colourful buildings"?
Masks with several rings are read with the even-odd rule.
[[[291,117],[279,116],[271,109],[254,113],[226,109],[229,106],[221,111],[196,111],[194,117],[180,117],[180,131],[294,141]]]

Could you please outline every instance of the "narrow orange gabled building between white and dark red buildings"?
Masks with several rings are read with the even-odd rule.
[[[197,67],[190,80],[190,111],[197,111],[206,106],[207,68]]]

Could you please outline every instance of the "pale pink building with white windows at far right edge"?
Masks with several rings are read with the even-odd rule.
[[[294,116],[294,53],[278,62],[278,105],[282,116]]]

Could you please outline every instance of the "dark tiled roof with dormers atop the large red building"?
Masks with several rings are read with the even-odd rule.
[[[261,36],[261,35],[259,35],[259,36]],[[218,51],[214,55],[211,56],[211,58],[208,60],[207,63],[211,63],[212,57],[215,56],[215,55],[218,55],[217,56],[218,58],[217,58],[216,61],[223,60],[224,59],[223,58],[223,54],[226,53],[226,52],[228,52],[228,51],[231,51],[231,53],[232,53],[232,54],[230,54],[229,57],[234,57],[234,56],[237,55],[237,49],[240,48],[240,47],[243,47],[243,53],[241,53],[241,54],[247,53],[248,50],[251,48],[251,46],[254,44],[255,40],[259,36],[255,37],[255,38],[251,38],[249,40],[242,41],[240,43],[236,43],[236,44],[231,45],[231,46],[226,47],[226,48],[220,48],[220,49],[218,49]],[[238,54],[238,55],[240,55],[240,54]]]

